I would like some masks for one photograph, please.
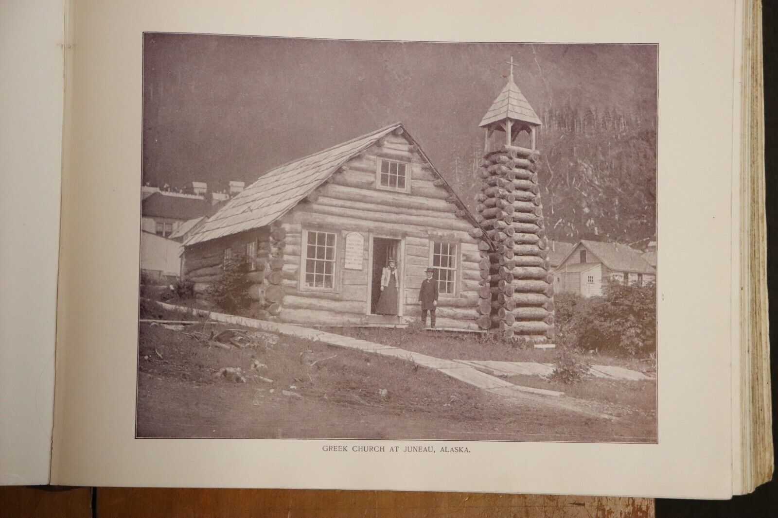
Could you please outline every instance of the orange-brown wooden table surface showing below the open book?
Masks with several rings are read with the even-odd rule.
[[[93,509],[94,506],[94,509]],[[653,499],[289,489],[0,488],[0,518],[262,516],[652,518]]]

